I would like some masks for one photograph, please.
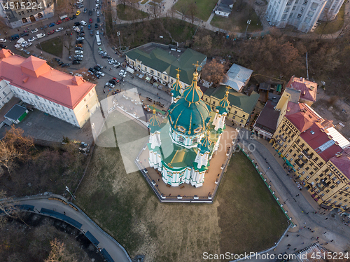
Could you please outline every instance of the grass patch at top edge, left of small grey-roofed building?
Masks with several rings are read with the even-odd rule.
[[[217,2],[217,0],[178,0],[176,4],[174,4],[174,8],[180,13],[188,13],[188,5],[196,3],[197,15],[195,16],[201,20],[207,21]]]

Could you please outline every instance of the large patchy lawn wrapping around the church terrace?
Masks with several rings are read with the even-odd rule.
[[[160,203],[140,172],[125,173],[118,148],[96,146],[76,199],[130,256],[155,262],[202,261],[204,251],[260,251],[288,226],[243,153],[232,157],[214,203],[191,205]]]

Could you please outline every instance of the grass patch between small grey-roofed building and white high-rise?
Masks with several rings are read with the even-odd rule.
[[[232,8],[232,13],[228,18],[223,18],[218,15],[214,15],[214,18],[211,20],[211,25],[221,29],[225,29],[231,32],[246,32],[247,20],[251,20],[250,25],[248,26],[247,32],[255,32],[262,30],[262,25],[258,15],[253,11],[253,9],[243,2],[242,6],[238,9],[239,2],[237,1]]]

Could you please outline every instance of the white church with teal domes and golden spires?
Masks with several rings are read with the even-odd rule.
[[[148,120],[150,131],[149,164],[162,173],[169,186],[203,185],[210,160],[219,149],[228,115],[228,90],[215,111],[202,101],[203,92],[197,86],[197,67],[192,84],[181,92],[179,69],[172,85],[172,104],[168,116],[160,120],[153,109]],[[225,150],[225,149],[222,149]]]

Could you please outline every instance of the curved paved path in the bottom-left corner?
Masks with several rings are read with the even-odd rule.
[[[63,200],[67,205],[59,200],[49,200],[49,198]],[[34,195],[25,198],[15,198],[14,201],[18,205],[34,206],[24,211],[51,216],[78,228],[89,238],[92,244],[102,249],[102,254],[104,254],[106,261],[132,262],[124,247],[97,226],[97,224],[76,207],[76,205],[73,205],[61,195]],[[73,209],[73,207],[76,207],[77,210]],[[27,208],[28,207],[26,207],[26,209]]]

